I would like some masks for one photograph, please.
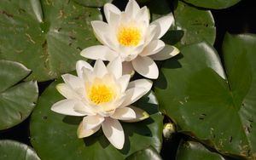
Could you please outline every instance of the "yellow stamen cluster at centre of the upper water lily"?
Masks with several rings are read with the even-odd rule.
[[[120,27],[118,41],[124,46],[137,46],[141,39],[141,31],[134,26]]]

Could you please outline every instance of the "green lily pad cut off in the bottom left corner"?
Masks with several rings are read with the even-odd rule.
[[[0,140],[0,159],[40,160],[30,146],[15,140]]]

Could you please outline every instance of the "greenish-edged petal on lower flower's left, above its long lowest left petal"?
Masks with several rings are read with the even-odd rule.
[[[56,85],[56,89],[67,99],[81,100],[79,94],[69,87],[66,83],[59,83]]]

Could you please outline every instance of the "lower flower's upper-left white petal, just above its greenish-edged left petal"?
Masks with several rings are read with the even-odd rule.
[[[72,89],[83,88],[84,83],[79,77],[73,76],[72,74],[61,75],[63,81],[67,83]]]

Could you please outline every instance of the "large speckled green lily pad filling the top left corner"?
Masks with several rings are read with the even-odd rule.
[[[79,52],[96,44],[91,20],[98,9],[73,1],[0,1],[0,59],[32,69],[28,79],[46,81],[73,71]]]

